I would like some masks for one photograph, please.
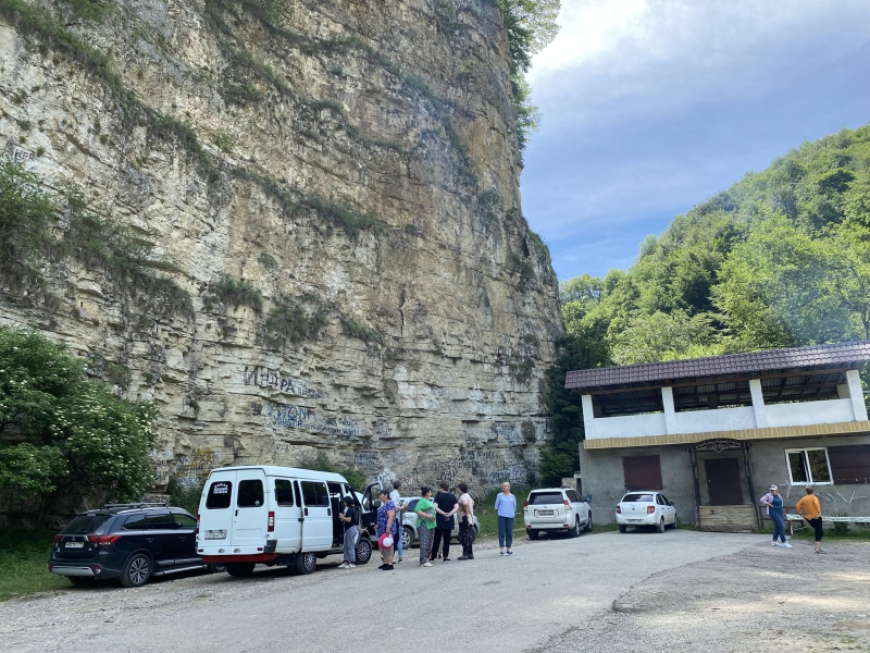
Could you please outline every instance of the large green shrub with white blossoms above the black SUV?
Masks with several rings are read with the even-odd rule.
[[[0,326],[0,490],[36,513],[138,500],[151,489],[158,410],[88,381],[85,362],[26,329]],[[21,503],[21,502],[20,502]]]

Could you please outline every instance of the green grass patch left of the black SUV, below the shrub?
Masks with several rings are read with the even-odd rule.
[[[0,601],[71,587],[65,578],[48,570],[55,534],[11,528],[0,532]]]

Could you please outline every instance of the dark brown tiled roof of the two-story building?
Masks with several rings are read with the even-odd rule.
[[[831,365],[842,366],[865,360],[870,360],[870,341],[574,370],[566,374],[564,386],[567,389],[582,389],[627,383],[655,383],[697,377],[746,374],[771,370],[818,368]]]

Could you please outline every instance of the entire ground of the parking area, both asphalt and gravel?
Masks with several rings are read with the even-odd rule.
[[[303,577],[258,567],[71,589],[0,604],[0,651],[870,650],[870,545],[811,549],[612,532],[523,540],[513,557],[487,543],[432,568],[414,550],[393,572],[333,556]]]

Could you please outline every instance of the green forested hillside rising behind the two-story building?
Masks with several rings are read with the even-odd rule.
[[[568,369],[870,337],[870,125],[806,143],[676,215],[629,270],[560,289],[568,335],[545,476],[582,438]]]

